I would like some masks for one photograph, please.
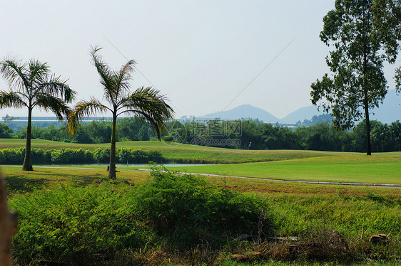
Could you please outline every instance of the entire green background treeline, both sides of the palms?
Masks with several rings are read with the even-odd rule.
[[[168,122],[163,135],[165,141],[196,144],[231,149],[307,149],[320,151],[365,152],[365,122],[350,131],[337,131],[330,122],[320,122],[328,117],[318,116],[305,120],[308,127],[280,127],[253,120],[220,121],[205,123],[178,121]],[[315,122],[320,122],[314,124]],[[373,152],[400,151],[401,123],[391,124],[370,121]],[[26,130],[14,133],[6,123],[0,123],[1,138],[26,137]],[[137,117],[117,120],[116,139],[121,141],[150,140],[154,137],[148,124]],[[58,142],[108,143],[111,139],[111,122],[108,120],[83,123],[76,134],[68,134],[65,124],[59,127],[33,127],[33,139],[49,139]]]

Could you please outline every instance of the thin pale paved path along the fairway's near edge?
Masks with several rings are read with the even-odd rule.
[[[151,169],[138,169],[140,171],[151,171]],[[347,182],[323,182],[323,181],[303,181],[303,180],[286,180],[286,179],[261,179],[260,177],[249,177],[249,176],[225,176],[221,174],[199,174],[199,173],[187,173],[177,172],[178,174],[193,174],[198,176],[211,176],[211,177],[233,177],[235,179],[257,179],[264,181],[280,181],[290,183],[315,183],[320,185],[341,185],[341,186],[384,186],[390,188],[401,188],[401,184],[395,183],[347,183]]]

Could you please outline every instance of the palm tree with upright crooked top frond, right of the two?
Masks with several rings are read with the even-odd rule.
[[[100,83],[104,91],[104,99],[110,107],[103,105],[99,100],[82,100],[78,102],[71,115],[68,116],[68,129],[74,134],[78,122],[83,117],[96,115],[97,112],[111,112],[113,124],[111,126],[111,149],[108,178],[116,179],[116,120],[123,113],[144,117],[152,129],[156,132],[158,139],[161,139],[161,132],[166,129],[164,123],[173,117],[173,109],[166,103],[166,97],[160,95],[158,90],[152,87],[140,87],[135,92],[130,92],[129,81],[133,72],[134,60],[122,66],[118,71],[113,71],[106,63],[103,63],[101,55],[98,55],[101,48],[93,47],[91,59],[100,75]]]

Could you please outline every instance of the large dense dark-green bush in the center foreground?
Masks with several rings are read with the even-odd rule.
[[[138,189],[139,216],[173,245],[224,241],[242,233],[268,233],[271,218],[260,199],[217,188],[197,176],[152,171],[153,180]]]

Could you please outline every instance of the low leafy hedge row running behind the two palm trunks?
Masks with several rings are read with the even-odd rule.
[[[25,148],[0,149],[1,164],[22,164]],[[110,148],[88,149],[32,149],[33,164],[108,164]],[[148,164],[149,161],[163,163],[166,160],[160,151],[121,148],[116,149],[116,162],[120,164]]]

